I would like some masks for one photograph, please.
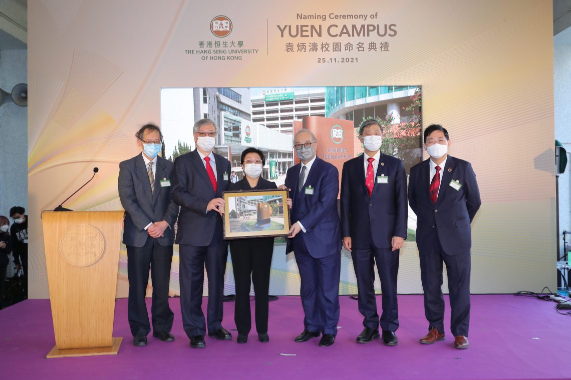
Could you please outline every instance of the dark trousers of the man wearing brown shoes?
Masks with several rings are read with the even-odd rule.
[[[458,255],[447,255],[440,244],[437,228],[429,239],[432,249],[420,252],[420,276],[424,290],[424,314],[428,320],[428,328],[436,328],[444,333],[444,282],[443,263],[448,275],[448,291],[450,293],[450,329],[456,337],[468,336],[470,324],[470,251]]]

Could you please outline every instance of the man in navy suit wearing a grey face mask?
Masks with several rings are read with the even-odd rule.
[[[325,347],[335,342],[339,321],[339,172],[316,157],[317,140],[309,130],[297,132],[294,144],[301,164],[286,174],[293,201],[286,254],[295,252],[305,313],[304,330],[295,341],[305,342],[323,333],[319,345]]]

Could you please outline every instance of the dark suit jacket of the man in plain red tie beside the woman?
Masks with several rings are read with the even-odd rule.
[[[222,223],[220,214],[214,210],[207,213],[206,207],[208,202],[222,197],[222,192],[228,190],[231,168],[230,161],[226,158],[216,153],[214,156],[218,177],[216,193],[197,150],[183,154],[175,160],[172,199],[180,206],[177,244],[206,247],[212,242],[216,222]]]

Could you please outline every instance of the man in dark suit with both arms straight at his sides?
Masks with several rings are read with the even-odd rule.
[[[363,332],[357,343],[379,337],[375,299],[375,261],[383,291],[380,325],[383,343],[397,345],[399,328],[397,274],[399,250],[407,237],[407,174],[403,162],[380,152],[383,129],[376,120],[363,122],[359,140],[363,156],[343,165],[341,175],[341,231],[343,245],[351,252],[359,289]]]

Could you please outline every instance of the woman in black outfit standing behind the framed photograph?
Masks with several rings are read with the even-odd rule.
[[[256,148],[242,152],[244,178],[230,183],[228,190],[277,189],[274,182],[262,178],[266,164],[264,154]],[[268,336],[268,292],[270,290],[270,265],[274,252],[274,238],[252,238],[230,240],[230,255],[236,282],[236,304],[234,321],[238,329],[238,343],[248,341],[252,327],[250,314],[250,276],[256,293],[256,331],[260,342],[270,340]]]

